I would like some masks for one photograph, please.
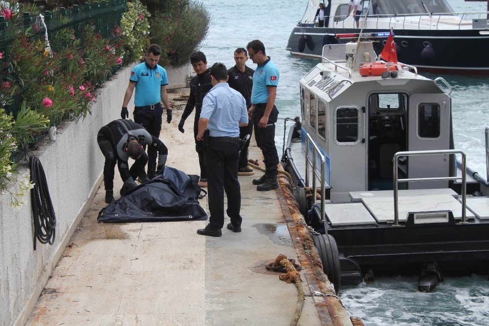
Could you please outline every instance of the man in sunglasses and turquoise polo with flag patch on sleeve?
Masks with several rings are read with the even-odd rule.
[[[277,164],[278,153],[275,147],[275,122],[278,110],[275,106],[279,71],[265,53],[265,46],[254,40],[246,46],[253,63],[258,67],[253,74],[253,90],[251,91],[251,108],[248,115],[253,119],[256,144],[265,158],[265,174],[260,179],[253,179],[258,191],[278,188]]]

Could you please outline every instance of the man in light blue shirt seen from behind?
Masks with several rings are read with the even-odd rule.
[[[226,213],[231,219],[227,228],[241,232],[241,188],[238,181],[238,160],[240,157],[240,128],[248,124],[244,97],[229,87],[226,66],[215,63],[211,68],[214,86],[202,104],[199,119],[198,140],[204,139],[204,131],[209,130],[208,144],[205,146],[204,163],[209,176],[209,211],[211,216],[205,229],[197,233],[221,236],[224,226],[224,191],[227,195]]]

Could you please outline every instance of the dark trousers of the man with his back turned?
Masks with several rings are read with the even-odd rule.
[[[205,147],[204,163],[209,180],[209,225],[212,230],[224,226],[224,191],[227,196],[227,216],[234,226],[241,226],[241,188],[238,181],[239,145],[209,140]]]

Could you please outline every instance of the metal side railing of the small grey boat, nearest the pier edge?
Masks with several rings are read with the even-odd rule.
[[[312,147],[312,162],[311,158],[309,155],[309,147]],[[317,157],[319,157],[320,165],[321,165],[321,171],[318,173],[317,171]],[[325,211],[324,211],[324,198],[325,198],[325,181],[324,181],[324,163],[325,163],[325,158],[324,155],[321,153],[319,150],[319,147],[317,147],[316,143],[314,140],[312,140],[311,135],[309,133],[306,133],[306,186],[310,186],[310,177],[309,177],[309,167],[312,168],[312,202],[315,203],[315,198],[316,198],[316,181],[319,179],[319,182],[321,184],[321,221],[325,221]]]

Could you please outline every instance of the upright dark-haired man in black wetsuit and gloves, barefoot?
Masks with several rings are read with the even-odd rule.
[[[190,116],[195,107],[195,118],[194,118],[194,140],[195,140],[195,150],[199,155],[199,165],[200,165],[200,181],[199,186],[207,186],[207,173],[205,171],[204,165],[204,146],[201,140],[197,139],[197,133],[199,131],[199,117],[200,110],[202,109],[202,100],[205,94],[209,92],[212,88],[211,74],[207,69],[207,59],[205,54],[200,51],[196,51],[190,55],[190,63],[197,73],[196,76],[192,77],[190,80],[190,96],[183,110],[180,123],[178,123],[178,130],[184,132],[183,124],[185,120]]]

